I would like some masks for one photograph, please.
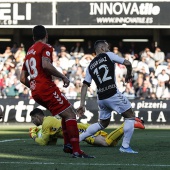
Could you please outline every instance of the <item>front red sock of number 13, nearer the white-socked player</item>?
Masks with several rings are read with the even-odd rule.
[[[67,133],[70,138],[70,143],[73,147],[73,152],[81,153],[79,146],[79,132],[77,128],[77,121],[75,119],[69,119],[66,121]]]

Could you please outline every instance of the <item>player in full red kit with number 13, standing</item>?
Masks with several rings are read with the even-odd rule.
[[[72,153],[73,158],[94,158],[80,150],[79,132],[73,106],[52,80],[52,76],[61,78],[64,87],[68,87],[70,83],[67,77],[52,65],[53,48],[47,44],[47,31],[44,26],[37,25],[32,32],[35,43],[26,54],[20,81],[30,88],[32,97],[37,103],[50,110],[53,116],[61,116],[64,135],[63,151]]]

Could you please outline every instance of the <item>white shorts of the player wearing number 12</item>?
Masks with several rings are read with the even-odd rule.
[[[130,101],[119,91],[107,99],[97,100],[99,106],[99,119],[105,120],[111,117],[111,112],[121,114],[131,108]]]

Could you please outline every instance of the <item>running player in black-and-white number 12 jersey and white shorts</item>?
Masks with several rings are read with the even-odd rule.
[[[125,82],[132,79],[132,65],[128,60],[110,52],[105,40],[98,40],[94,44],[96,57],[90,62],[81,89],[81,102],[77,112],[83,115],[85,112],[85,97],[92,79],[97,86],[97,103],[99,106],[100,121],[91,124],[79,137],[82,141],[99,130],[106,128],[110,123],[111,112],[114,110],[125,118],[124,137],[120,152],[138,153],[131,149],[130,140],[134,132],[135,115],[130,101],[119,92],[115,80],[115,63],[123,64],[127,68]]]

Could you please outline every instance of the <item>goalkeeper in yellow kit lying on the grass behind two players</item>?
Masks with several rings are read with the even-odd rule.
[[[30,137],[35,140],[39,145],[48,145],[48,144],[56,144],[58,138],[63,138],[63,132],[61,128],[61,120],[57,119],[53,116],[45,116],[44,112],[35,108],[30,112],[30,116],[32,118],[32,122],[36,125],[36,127],[32,127],[29,130]],[[38,126],[42,125],[41,128]],[[89,124],[78,123],[79,134],[84,132]],[[98,131],[93,136],[90,136],[85,139],[85,142],[92,145],[98,146],[116,146],[118,141],[123,136],[123,126],[124,123],[112,131],[110,134],[105,131]],[[136,118],[135,128],[144,129],[143,121],[140,118]],[[65,146],[63,148],[65,152],[71,152],[71,145]]]

